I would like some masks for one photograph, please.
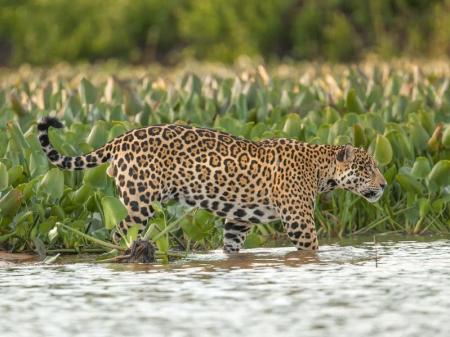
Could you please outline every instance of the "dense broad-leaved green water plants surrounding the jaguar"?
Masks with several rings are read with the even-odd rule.
[[[320,236],[449,232],[448,65],[189,69],[23,67],[3,73],[0,247],[46,255],[98,248],[96,238],[103,248],[118,248],[105,243],[125,216],[106,166],[85,172],[52,167],[36,136],[36,120],[45,115],[64,121],[66,129],[51,129],[50,138],[67,155],[86,153],[131,128],[166,122],[254,140],[352,143],[374,154],[389,186],[377,204],[344,191],[322,195],[316,212]],[[220,245],[221,219],[176,204],[154,206],[158,212],[147,236],[162,253]],[[257,225],[246,246],[280,231],[279,223]],[[131,231],[123,247],[135,235]]]

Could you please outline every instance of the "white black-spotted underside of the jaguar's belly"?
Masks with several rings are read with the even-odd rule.
[[[182,204],[191,207],[200,207],[207,209],[214,214],[235,221],[249,223],[268,223],[279,219],[278,214],[271,205],[257,203],[233,203],[220,200],[195,200],[182,198],[179,199]]]

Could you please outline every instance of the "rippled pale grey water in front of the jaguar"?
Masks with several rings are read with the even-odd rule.
[[[450,336],[450,240],[0,264],[0,336]]]

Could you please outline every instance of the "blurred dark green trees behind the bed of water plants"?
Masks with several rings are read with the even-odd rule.
[[[450,0],[0,0],[0,64],[449,57]]]

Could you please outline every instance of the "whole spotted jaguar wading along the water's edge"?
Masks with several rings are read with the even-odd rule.
[[[252,224],[277,219],[297,249],[315,250],[313,214],[319,193],[343,188],[375,202],[386,186],[373,158],[350,145],[283,138],[252,142],[168,124],[132,130],[89,154],[67,157],[50,144],[50,126],[62,124],[44,118],[38,124],[39,141],[54,165],[82,170],[110,162],[108,175],[128,209],[118,228],[121,235],[133,224],[145,227],[153,215],[152,201],[175,199],[226,219],[227,253],[239,251]]]

